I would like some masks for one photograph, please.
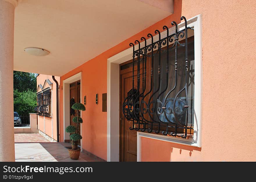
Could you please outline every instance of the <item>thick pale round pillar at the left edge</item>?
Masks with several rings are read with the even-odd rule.
[[[0,161],[15,161],[13,34],[17,0],[0,0]]]

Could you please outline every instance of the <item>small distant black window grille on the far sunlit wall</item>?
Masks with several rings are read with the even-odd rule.
[[[37,93],[37,106],[35,111],[37,115],[51,117],[51,88],[47,87]]]

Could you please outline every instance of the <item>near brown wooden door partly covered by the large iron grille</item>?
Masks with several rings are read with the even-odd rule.
[[[140,73],[143,73],[142,64]],[[146,84],[149,83],[150,60],[147,60]],[[134,67],[134,88],[137,87],[137,66]],[[141,76],[142,77],[142,76]],[[128,121],[122,113],[122,103],[132,89],[132,60],[120,64],[120,161],[137,161],[137,131],[130,130],[132,121]],[[148,92],[148,87],[146,92]],[[142,92],[142,83],[139,92]],[[145,93],[146,93],[145,92]],[[138,127],[138,126],[135,126]]]

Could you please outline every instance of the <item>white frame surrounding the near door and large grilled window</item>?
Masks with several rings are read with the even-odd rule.
[[[201,147],[201,123],[202,123],[202,15],[187,19],[189,27],[194,28],[194,50],[195,50],[195,87],[194,87],[194,136],[191,139],[163,136],[137,132],[137,161],[141,161],[141,137],[152,138],[171,143],[179,143],[194,147]],[[185,28],[182,21],[178,29]],[[169,34],[175,33],[175,26],[169,28]],[[167,31],[161,33],[166,37]],[[158,35],[153,37],[154,42]],[[147,41],[150,41],[148,39]],[[143,47],[144,42],[141,43]],[[138,45],[135,45],[138,49]],[[132,47],[107,59],[107,161],[119,161],[119,64],[132,59]]]

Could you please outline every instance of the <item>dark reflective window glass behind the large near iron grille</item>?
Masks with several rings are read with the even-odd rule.
[[[172,47],[172,46],[169,46]],[[154,76],[153,76],[153,91],[156,92],[153,98],[158,101],[155,108],[161,110],[162,107],[166,107],[166,113],[164,112],[154,115],[154,120],[161,120],[163,122],[186,122],[186,91],[183,89],[186,84],[186,69],[185,69],[185,47],[178,46],[177,48],[177,82],[176,82],[176,71],[175,71],[175,47],[169,48],[169,71],[168,77],[166,76],[166,64],[167,64],[167,51],[162,52],[160,55],[160,80],[158,74],[159,66],[159,53],[154,56]],[[189,103],[189,115],[188,115],[188,126],[193,125],[194,120],[194,39],[193,36],[188,38],[188,61],[189,61],[189,75],[188,75],[188,103]],[[167,88],[166,88],[167,87]],[[183,91],[182,91],[183,89]],[[171,91],[173,90],[173,91]],[[171,92],[170,92],[171,91]],[[181,91],[181,92],[180,92]],[[179,93],[179,94],[178,94]],[[178,94],[178,95],[177,95]],[[174,104],[175,97],[176,101]],[[174,107],[173,107],[174,104]],[[173,112],[175,109],[176,119]]]

